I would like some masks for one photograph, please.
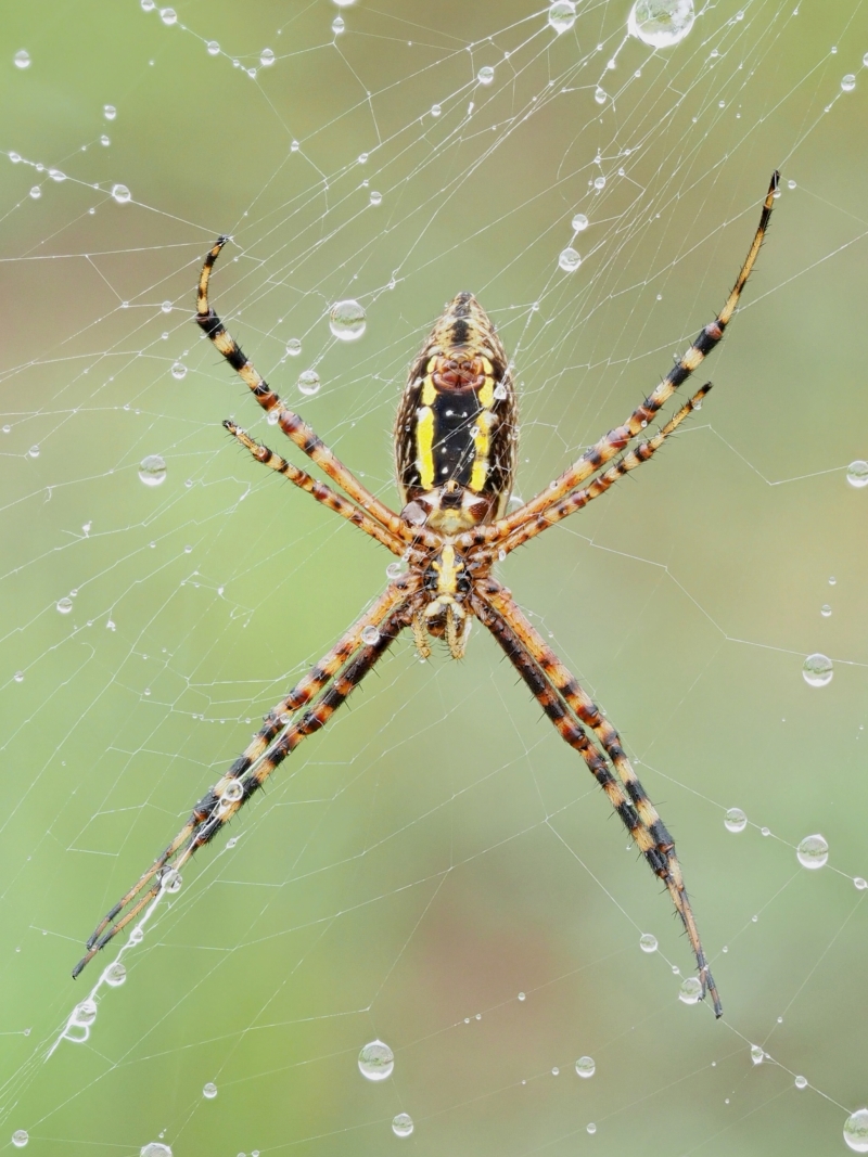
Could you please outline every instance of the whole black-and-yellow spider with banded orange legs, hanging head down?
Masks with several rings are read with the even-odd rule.
[[[402,499],[400,513],[396,514],[354,478],[297,414],[287,410],[226,331],[208,302],[211,271],[228,241],[218,238],[199,278],[196,320],[271,420],[277,419],[289,441],[343,494],[255,442],[235,422],[226,421],[225,427],[258,462],[382,543],[406,562],[406,569],[391,578],[334,647],[269,712],[244,753],[208,789],[171,843],[101,921],[73,977],[150,900],[177,887],[178,870],[214,839],[303,739],[329,722],[404,628],[411,631],[421,658],[431,655],[431,638],[444,639],[453,658],[461,658],[476,618],[492,633],[561,738],[579,752],[642,856],[664,883],[696,957],[701,996],[709,994],[715,1016],[722,1015],[672,838],[639,782],[618,732],[492,569],[510,551],[581,510],[628,471],[648,462],[699,408],[711,383],[685,401],[656,434],[627,449],[723,337],[768,227],[778,179],[775,172],[744,265],[716,318],[700,331],[623,426],[610,430],[546,489],[512,514],[506,510],[518,434],[515,385],[503,346],[472,294],[459,293],[447,305],[411,367],[395,422]],[[626,452],[618,457],[623,450]],[[392,563],[390,574],[399,568],[400,563]]]

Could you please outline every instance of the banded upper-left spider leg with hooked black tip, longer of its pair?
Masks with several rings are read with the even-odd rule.
[[[375,498],[370,491],[362,486],[337,455],[314,433],[310,426],[302,421],[297,414],[286,408],[278,395],[274,393],[253,363],[242,352],[241,346],[227,332],[226,326],[211,308],[208,303],[211,271],[220,256],[220,250],[228,239],[228,237],[218,237],[208,256],[205,258],[205,264],[199,275],[199,289],[196,299],[197,324],[211,338],[263,410],[266,412],[277,410],[278,425],[284,434],[312,459],[345,494],[353,499],[354,502],[358,502],[368,515],[390,530],[396,538],[410,541],[413,538],[419,539],[420,537],[425,537],[424,531],[420,533],[418,529],[411,530],[393,510],[390,510],[385,503],[381,502],[380,499]],[[433,536],[431,537],[433,541]]]

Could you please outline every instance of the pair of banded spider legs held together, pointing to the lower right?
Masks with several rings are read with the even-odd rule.
[[[493,580],[485,580],[484,584],[477,585],[472,605],[477,618],[494,635],[561,738],[582,757],[652,871],[665,884],[693,949],[703,995],[706,992],[711,994],[714,1015],[722,1016],[720,996],[699,938],[672,838],[639,782],[618,732],[531,627],[505,588]],[[616,775],[591,744],[582,723],[595,732]]]

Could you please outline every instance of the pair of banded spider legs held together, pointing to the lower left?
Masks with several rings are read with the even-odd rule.
[[[263,727],[244,753],[197,803],[190,819],[162,855],[157,856],[150,868],[100,922],[88,938],[87,955],[73,968],[73,978],[78,977],[84,965],[157,896],[167,864],[172,861],[171,867],[177,869],[182,863],[186,863],[197,848],[213,839],[231,819],[302,739],[318,731],[329,721],[353,687],[361,683],[403,627],[410,622],[415,585],[412,578],[390,584],[329,654],[269,712]],[[407,610],[409,607],[411,610]],[[368,631],[372,632],[370,641],[363,638]],[[373,638],[374,634],[376,639]],[[300,718],[293,720],[293,713],[309,703],[324,687],[326,690],[319,700]],[[177,858],[174,858],[176,856]],[[139,899],[134,906],[127,908],[137,897]],[[122,919],[105,931],[122,912],[124,913]]]

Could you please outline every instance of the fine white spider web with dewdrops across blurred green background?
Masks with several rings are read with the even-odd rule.
[[[0,1104],[32,1151],[846,1151],[868,1101],[868,491],[847,471],[868,457],[868,20],[708,3],[655,51],[627,10],[580,2],[561,34],[515,0],[9,14]],[[515,360],[529,498],[714,316],[774,167],[701,413],[502,568],[676,835],[723,1020],[679,1000],[668,898],[478,627],[462,663],[398,642],[74,983],[96,920],[390,561],[225,436],[234,417],[287,454],[191,322],[214,237],[230,332],[392,504],[406,366],[472,289]],[[329,327],[346,299],[352,344]],[[814,833],[819,871],[796,856]],[[356,1064],[376,1039],[388,1081]]]

